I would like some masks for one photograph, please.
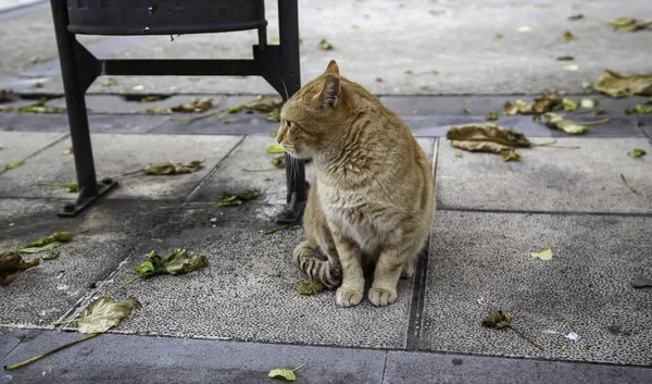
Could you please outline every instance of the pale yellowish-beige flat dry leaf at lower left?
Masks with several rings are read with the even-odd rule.
[[[131,308],[135,306],[139,306],[139,304],[133,298],[116,302],[110,297],[100,297],[79,313],[78,331],[82,333],[106,332],[131,313]]]

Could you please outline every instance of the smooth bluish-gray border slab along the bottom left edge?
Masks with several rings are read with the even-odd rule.
[[[14,363],[79,338],[41,332],[2,359]],[[273,383],[274,368],[294,369],[298,383],[383,382],[386,352],[326,347],[101,335],[20,370],[12,383]],[[4,383],[1,381],[0,383]]]

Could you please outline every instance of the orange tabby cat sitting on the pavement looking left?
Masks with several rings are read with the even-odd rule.
[[[330,61],[285,103],[277,139],[316,170],[296,264],[339,286],[337,304],[350,307],[362,300],[363,267],[375,263],[368,299],[394,302],[399,277],[413,275],[435,219],[432,173],[410,129]]]

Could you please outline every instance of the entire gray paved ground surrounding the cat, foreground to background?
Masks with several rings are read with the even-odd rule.
[[[271,39],[278,36],[275,3],[266,1]],[[272,92],[262,80],[121,77],[105,87],[100,78],[87,98],[99,176],[167,160],[205,159],[205,166],[177,177],[122,179],[77,218],[60,219],[57,211],[75,195],[38,183],[75,181],[73,158],[62,154],[71,146],[67,116],[0,113],[0,168],[25,161],[0,173],[0,250],[57,231],[76,236],[59,258],[43,260],[2,287],[1,362],[78,338],[67,332],[74,326],[54,331],[50,324],[74,317],[130,278],[151,250],[185,247],[205,255],[210,265],[127,286],[117,298],[134,296],[142,307],[116,330],[3,372],[0,383],[126,383],[136,377],[258,383],[268,382],[272,368],[301,362],[308,366],[298,382],[310,383],[649,382],[652,290],[635,289],[630,282],[637,275],[652,277],[652,120],[624,114],[647,99],[600,98],[605,110],[600,117],[610,121],[579,137],[551,131],[531,116],[500,115],[497,124],[535,143],[556,139],[580,147],[522,149],[519,162],[465,151],[459,158],[443,137],[453,125],[500,113],[506,100],[529,100],[553,88],[570,92],[572,99],[590,95],[579,83],[606,67],[652,73],[641,48],[652,42],[652,33],[616,34],[604,23],[615,16],[652,17],[645,15],[647,4],[299,3],[303,82],[337,59],[344,75],[384,95],[380,100],[403,119],[434,165],[438,213],[430,243],[415,277],[401,281],[398,301],[379,309],[365,300],[342,309],[333,292],[297,294],[302,276],[290,256],[302,228],[264,235],[277,227],[285,172],[246,171],[273,168],[271,154],[251,150],[275,143],[268,134],[277,123],[259,113],[193,122],[171,120],[188,114],[139,113],[192,97],[211,97],[221,110],[252,99],[250,94]],[[0,1],[0,88],[52,92],[48,106],[65,107],[50,11],[36,7],[11,13],[2,11],[7,4]],[[578,13],[585,18],[567,18]],[[519,33],[523,26],[531,32]],[[577,40],[561,42],[566,29]],[[316,49],[324,37],[333,51]],[[99,57],[246,58],[254,35],[80,40]],[[554,60],[566,54],[576,57],[577,71],[564,71],[568,63]],[[37,82],[43,86],[35,87]],[[141,103],[134,94],[170,97]],[[593,120],[581,111],[564,114]],[[634,148],[649,154],[627,157]],[[311,164],[306,173],[314,175]],[[637,193],[627,189],[620,174]],[[252,187],[262,191],[258,200],[237,208],[211,206],[223,191]],[[553,247],[552,260],[529,256],[546,245]],[[490,309],[512,312],[514,327],[543,349],[510,330],[484,329],[480,322]],[[567,338],[570,332],[579,339]]]

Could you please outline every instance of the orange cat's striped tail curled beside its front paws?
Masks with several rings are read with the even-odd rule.
[[[313,281],[318,281],[328,289],[335,289],[342,283],[339,268],[330,260],[323,260],[318,249],[303,241],[294,248],[294,264]]]

